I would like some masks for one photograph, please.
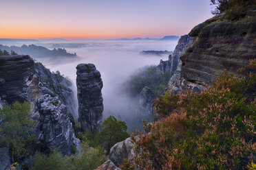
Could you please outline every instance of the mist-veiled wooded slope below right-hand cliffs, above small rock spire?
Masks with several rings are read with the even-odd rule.
[[[159,96],[164,88],[167,87],[170,77],[171,73],[159,73],[156,71],[156,66],[148,66],[130,77],[125,83],[125,90],[131,95],[136,96],[142,88],[148,86],[155,96]]]

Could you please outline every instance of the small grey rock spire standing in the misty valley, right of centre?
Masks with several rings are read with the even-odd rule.
[[[153,110],[151,103],[153,99],[155,99],[155,95],[153,94],[152,90],[145,86],[139,95],[139,106],[142,110],[145,110],[147,115],[150,115]]]

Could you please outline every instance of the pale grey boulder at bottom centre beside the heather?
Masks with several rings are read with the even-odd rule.
[[[135,136],[136,140],[138,140],[138,137]],[[114,165],[120,167],[124,159],[131,160],[131,158],[134,158],[134,147],[135,145],[131,138],[116,143],[116,145],[111,147],[108,159],[114,162]]]

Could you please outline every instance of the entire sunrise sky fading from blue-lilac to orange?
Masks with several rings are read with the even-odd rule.
[[[0,38],[160,38],[211,18],[210,0],[0,0]]]

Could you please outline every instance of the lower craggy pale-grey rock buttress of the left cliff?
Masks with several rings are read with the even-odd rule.
[[[71,145],[79,149],[80,141],[74,135],[70,113],[58,97],[42,95],[38,99],[38,108],[40,119],[36,136],[39,136],[41,145],[44,148],[57,148],[65,155],[71,154]]]

